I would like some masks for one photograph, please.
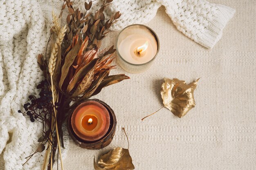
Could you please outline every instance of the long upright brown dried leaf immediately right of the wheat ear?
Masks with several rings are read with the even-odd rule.
[[[61,86],[67,77],[67,73],[69,71],[70,66],[73,64],[74,59],[76,58],[76,55],[79,52],[79,49],[82,45],[82,41],[80,40],[71,50],[70,52],[66,55],[65,57],[65,62],[64,65],[61,68],[61,79],[59,82],[59,88],[61,89]]]

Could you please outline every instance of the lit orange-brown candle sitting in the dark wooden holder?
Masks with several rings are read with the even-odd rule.
[[[71,125],[74,133],[83,141],[97,141],[108,132],[110,115],[101,103],[86,101],[74,110]]]

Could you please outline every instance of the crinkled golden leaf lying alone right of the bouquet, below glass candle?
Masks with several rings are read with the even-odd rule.
[[[194,90],[199,78],[190,84],[177,78],[164,78],[161,88],[161,96],[164,107],[168,108],[178,117],[183,117],[189,110],[195,107]]]

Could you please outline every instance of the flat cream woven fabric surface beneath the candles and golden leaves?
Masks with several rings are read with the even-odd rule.
[[[65,169],[92,170],[93,158],[117,146],[127,148],[136,170],[255,170],[256,169],[256,1],[211,0],[236,9],[221,40],[206,49],[177,31],[161,7],[148,24],[158,35],[160,51],[147,72],[103,89],[117,116],[112,143],[102,150],[81,149],[72,140]],[[112,32],[104,44],[115,43]],[[163,78],[191,81],[196,106],[183,118],[162,107]]]

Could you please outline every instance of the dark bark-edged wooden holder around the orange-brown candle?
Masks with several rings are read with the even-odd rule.
[[[105,136],[103,136],[103,138],[97,140],[97,141],[83,141],[82,139],[80,139],[75,133],[74,130],[72,129],[71,126],[71,116],[75,110],[75,108],[73,108],[72,110],[69,111],[69,115],[67,116],[67,130],[68,133],[70,134],[70,136],[72,137],[72,139],[75,141],[75,143],[77,143],[81,148],[86,148],[86,149],[101,149],[101,148],[105,148],[106,146],[108,146],[114,135],[115,135],[115,131],[116,131],[116,126],[117,126],[117,119],[115,116],[114,111],[110,108],[109,105],[107,105],[105,102],[100,101],[99,99],[87,99],[83,102],[86,101],[97,101],[99,103],[101,103],[104,107],[106,107],[106,109],[109,112],[110,115],[110,126],[108,129],[108,132],[105,134]],[[83,103],[81,102],[81,103]],[[78,103],[81,104],[81,103]]]

